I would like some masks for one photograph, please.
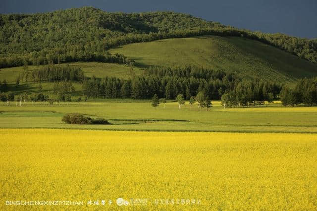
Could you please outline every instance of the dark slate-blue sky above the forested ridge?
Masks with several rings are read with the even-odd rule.
[[[253,31],[317,38],[317,0],[0,0],[0,13],[81,6],[110,12],[172,10]]]

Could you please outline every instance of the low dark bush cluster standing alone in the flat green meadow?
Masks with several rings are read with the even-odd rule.
[[[62,122],[67,124],[110,124],[106,119],[94,119],[79,113],[64,115]]]

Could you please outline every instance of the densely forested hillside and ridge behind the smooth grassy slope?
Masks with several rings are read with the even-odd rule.
[[[317,40],[235,29],[175,12],[126,14],[82,7],[31,15],[0,15],[0,67],[52,61],[119,63],[115,57],[122,58],[123,55],[109,55],[107,49],[129,43],[198,35],[259,40],[317,63]],[[111,56],[114,60],[110,59]]]

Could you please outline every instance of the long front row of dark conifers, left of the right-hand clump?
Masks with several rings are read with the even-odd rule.
[[[200,78],[179,78],[165,76],[137,76],[133,79],[119,79],[106,77],[104,79],[91,78],[83,82],[83,93],[93,98],[133,98],[151,99],[157,94],[159,98],[175,99],[177,94],[183,94],[186,100],[196,96],[199,91],[204,91],[210,98],[220,98],[234,82],[225,84],[220,80]]]

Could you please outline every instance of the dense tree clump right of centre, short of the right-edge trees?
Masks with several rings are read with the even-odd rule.
[[[272,103],[278,98],[281,85],[263,80],[241,81],[233,90],[226,91],[221,96],[221,105],[224,107],[261,106],[267,101]]]

